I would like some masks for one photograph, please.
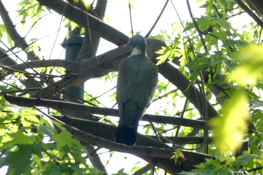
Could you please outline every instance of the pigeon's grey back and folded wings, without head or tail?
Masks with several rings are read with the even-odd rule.
[[[134,97],[139,106],[138,115],[134,118],[134,125],[137,124],[153,100],[157,82],[158,68],[149,58],[123,59],[120,63],[116,94],[120,118],[123,117],[123,103]]]

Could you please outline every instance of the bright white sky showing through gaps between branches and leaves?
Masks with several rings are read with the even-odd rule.
[[[18,0],[2,0],[3,4],[6,6],[7,10],[9,11],[9,15],[11,16],[13,23],[17,24],[19,23],[20,19],[14,18],[17,10],[17,2]],[[133,9],[131,11],[132,14],[132,21],[133,21],[133,30],[134,31],[142,31],[142,35],[145,35],[148,30],[151,28],[153,23],[155,22],[156,18],[158,17],[161,9],[163,8],[165,1],[164,0],[134,0],[133,2]],[[181,17],[182,20],[190,20],[188,9],[186,6],[185,1],[175,1],[173,0],[173,3],[176,5],[176,9]],[[199,9],[198,7],[201,6],[202,3],[196,3],[194,0],[190,1],[191,8],[193,10],[193,13],[195,17],[200,17],[200,14],[204,14],[204,9]],[[109,1],[107,4],[107,10],[105,15],[107,18],[109,18],[111,21],[107,22],[109,25],[113,26],[114,28],[117,28],[124,34],[128,34],[130,32],[130,18],[129,18],[129,9],[127,6],[126,1],[121,0],[112,0]],[[59,23],[60,23],[61,16],[57,15],[57,13],[50,14],[46,17],[44,17],[40,23],[38,23],[35,28],[30,32],[30,34],[26,37],[26,40],[28,43],[30,39],[32,38],[41,38],[43,36],[49,35],[50,33],[53,33],[58,30]],[[247,14],[242,14],[241,17],[237,16],[235,18],[230,19],[232,22],[232,26],[236,29],[241,29],[242,26],[245,24],[252,22],[252,19],[248,17]],[[169,30],[170,28],[167,26],[170,23],[174,23],[179,21],[175,10],[171,4],[171,2],[168,3],[166,6],[165,11],[163,12],[163,15],[161,16],[159,22],[157,23],[155,29],[152,31],[152,35],[156,35],[161,30]],[[0,19],[0,23],[3,24],[2,20]],[[16,29],[21,34],[21,36],[24,36],[28,29],[31,27],[32,22],[27,21],[24,25],[24,28],[21,28],[21,24],[18,24],[16,26]],[[55,43],[55,47],[51,56],[51,59],[64,59],[64,52],[63,48],[61,47],[60,43],[62,43],[63,39],[65,38],[65,35],[67,33],[68,29],[65,29],[63,24],[61,26],[61,31],[59,31],[58,39]],[[52,34],[40,41],[37,42],[41,46],[41,53],[40,56],[44,56],[45,59],[49,58],[54,40],[55,35]],[[128,36],[131,36],[131,34],[128,34]],[[6,37],[3,36],[1,39],[2,41],[6,41]],[[2,45],[0,45],[3,47]],[[99,49],[97,52],[97,55],[102,54],[108,50],[114,49],[117,46],[115,46],[112,43],[109,43],[108,41],[101,39]],[[3,47],[4,48],[4,47]],[[62,53],[62,54],[61,54]],[[25,57],[25,54],[19,53],[18,54],[21,57]],[[19,61],[18,61],[19,62]],[[106,92],[108,89],[114,87],[116,85],[116,80],[113,82],[108,82],[107,86],[104,84],[104,81],[100,80],[94,80],[91,79],[85,83],[85,90],[87,92],[92,92],[94,96],[100,95],[103,92]],[[106,87],[106,88],[105,88]],[[172,90],[173,86],[170,87]],[[113,91],[112,91],[113,92]],[[112,92],[108,93],[110,95]],[[99,99],[101,101],[105,101],[105,97],[102,99]],[[169,99],[167,99],[169,101]],[[109,101],[109,100],[106,100]],[[180,103],[178,103],[179,110],[182,110],[183,108],[183,102],[181,102],[180,99],[178,99]],[[107,107],[111,107],[115,101],[108,102],[106,105]],[[153,103],[152,106],[148,109],[148,113],[155,113],[154,110],[157,109],[159,106],[158,103]],[[116,118],[117,119],[117,118]],[[140,132],[140,131],[139,131]],[[101,149],[98,152],[105,152],[106,149]],[[102,154],[105,156],[101,156],[102,162],[105,163],[108,160],[109,153]],[[124,157],[128,157],[125,158]],[[141,160],[140,158],[128,155],[124,153],[114,152],[114,155],[112,158],[110,158],[110,161],[108,165],[106,166],[106,169],[108,173],[117,173],[119,169],[124,168],[124,172],[129,173],[130,169],[134,167],[134,163],[136,162],[145,162],[144,160]],[[139,163],[136,166],[144,166],[145,163]],[[2,171],[0,170],[0,174],[4,174],[4,168],[2,168]]]

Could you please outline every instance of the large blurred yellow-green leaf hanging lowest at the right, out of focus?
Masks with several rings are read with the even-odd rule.
[[[235,154],[241,147],[243,135],[247,132],[247,121],[250,118],[247,104],[245,93],[235,90],[230,100],[222,107],[224,111],[222,116],[210,120],[215,135],[214,143],[222,153],[229,150]]]

